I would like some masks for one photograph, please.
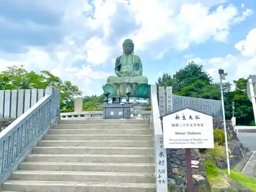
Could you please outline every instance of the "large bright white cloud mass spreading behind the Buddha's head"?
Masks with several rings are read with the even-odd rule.
[[[51,2],[45,7],[54,10],[60,6],[65,13],[60,26],[55,27],[65,37],[62,42],[29,46],[26,53],[12,54],[11,58],[4,59],[0,53],[0,69],[23,63],[29,70],[49,70],[71,80],[84,94],[101,93],[95,83],[103,84],[114,73],[113,60],[122,53],[121,43],[126,37],[134,40],[135,52],[142,57],[160,59],[171,50],[185,50],[210,38],[225,41],[230,27],[252,14],[249,9],[240,13],[233,5],[224,8],[223,0],[131,0],[131,5],[120,3],[122,0],[95,1],[95,12],[87,1]],[[217,9],[210,12],[213,6]],[[88,19],[93,13],[96,19]],[[38,25],[29,26],[35,29]],[[247,38],[253,40],[249,35]],[[241,41],[236,47],[242,54],[253,54],[251,48],[255,47],[247,44]]]

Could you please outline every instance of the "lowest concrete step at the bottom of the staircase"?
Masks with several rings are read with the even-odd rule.
[[[9,180],[4,182],[3,189],[33,192],[156,192],[156,184]]]

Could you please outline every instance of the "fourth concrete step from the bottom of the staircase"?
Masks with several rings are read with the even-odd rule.
[[[105,155],[105,154],[30,154],[25,161],[33,162],[116,162],[154,163],[151,155]]]

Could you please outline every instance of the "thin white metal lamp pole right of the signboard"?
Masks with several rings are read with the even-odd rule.
[[[225,109],[224,109],[222,76],[220,76],[220,86],[221,86],[222,115],[223,115],[223,125],[224,125],[224,134],[225,134],[226,156],[227,156],[227,172],[228,172],[228,175],[230,175],[230,163],[229,163],[229,153],[228,153],[228,143],[227,143],[227,127],[226,127],[226,117],[225,117]]]

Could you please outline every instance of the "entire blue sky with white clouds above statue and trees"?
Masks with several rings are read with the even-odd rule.
[[[232,81],[256,73],[255,11],[255,0],[2,0],[0,70],[48,70],[98,95],[132,38],[150,83],[189,60]]]

